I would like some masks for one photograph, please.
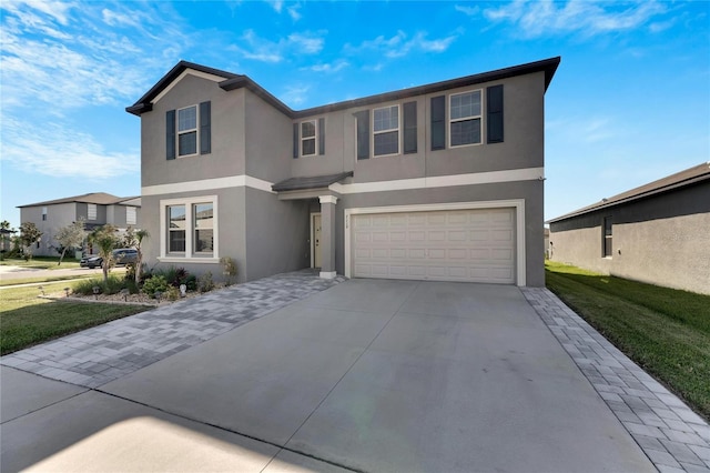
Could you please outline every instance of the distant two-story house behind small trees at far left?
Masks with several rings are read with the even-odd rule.
[[[53,235],[57,230],[83,219],[87,231],[110,223],[119,230],[141,227],[141,198],[119,198],[104,192],[74,195],[47,202],[18,205],[20,221],[32,222],[42,232],[33,249],[34,255],[57,255],[60,244]]]

